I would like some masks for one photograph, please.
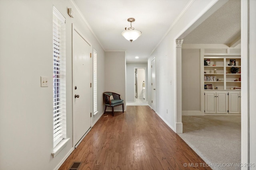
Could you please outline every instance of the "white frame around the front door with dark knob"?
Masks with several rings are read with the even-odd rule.
[[[72,23],[72,146],[74,148],[76,148],[76,146],[78,146],[82,140],[84,139],[84,137],[89,133],[89,131],[92,129],[92,116],[90,117],[90,128],[88,129],[88,131],[86,131],[86,133],[84,134],[84,136],[80,139],[80,141],[78,143],[74,143],[74,77],[73,77],[73,33],[74,31],[76,31],[76,33],[78,33],[83,39],[84,41],[86,41],[86,43],[88,43],[90,45],[90,53],[92,54],[92,44],[90,43],[90,41],[88,41],[88,39],[85,38],[85,36],[81,33],[81,31],[79,31],[79,29],[77,29],[77,27],[74,25],[74,23]],[[90,57],[90,82],[92,82],[92,57]],[[90,88],[90,113],[92,113],[92,87]],[[76,145],[76,146],[75,146]]]

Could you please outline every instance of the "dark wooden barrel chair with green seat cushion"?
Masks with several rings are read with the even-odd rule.
[[[120,98],[120,94],[114,93],[114,92],[104,92],[103,93],[103,101],[105,104],[105,111],[107,107],[112,107],[112,115],[114,116],[114,107],[122,105],[123,107],[123,113],[124,113],[124,100]]]

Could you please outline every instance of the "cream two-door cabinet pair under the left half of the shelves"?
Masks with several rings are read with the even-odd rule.
[[[228,92],[205,92],[205,113],[228,113]]]

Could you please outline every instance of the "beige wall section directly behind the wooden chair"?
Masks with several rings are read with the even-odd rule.
[[[105,52],[105,92],[120,94],[126,108],[126,59],[125,52]],[[107,111],[112,111],[107,107]],[[121,111],[122,106],[116,106],[114,111]]]

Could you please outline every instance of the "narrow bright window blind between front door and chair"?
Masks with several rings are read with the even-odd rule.
[[[97,51],[93,50],[93,103],[94,113],[97,112]]]

